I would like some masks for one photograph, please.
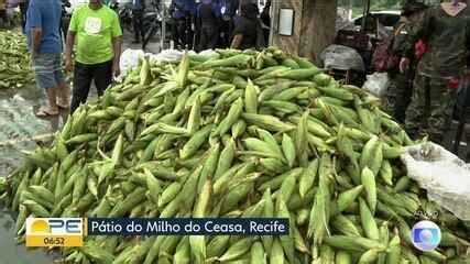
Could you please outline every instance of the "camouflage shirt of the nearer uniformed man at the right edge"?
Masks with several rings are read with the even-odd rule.
[[[414,43],[422,38],[427,52],[418,64],[418,72],[430,77],[460,75],[467,64],[470,43],[470,7],[450,16],[440,7],[425,11],[407,41],[406,57],[414,56]]]

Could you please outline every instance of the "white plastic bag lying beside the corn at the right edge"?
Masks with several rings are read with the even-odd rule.
[[[470,169],[463,161],[430,142],[406,147],[401,160],[430,200],[470,221]]]

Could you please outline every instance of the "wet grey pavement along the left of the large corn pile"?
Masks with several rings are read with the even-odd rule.
[[[34,150],[36,142],[47,142],[63,125],[66,112],[52,119],[39,119],[34,116],[44,100],[43,91],[34,85],[0,91],[0,177],[7,176],[20,164],[23,151]],[[15,213],[0,205],[0,263],[52,263],[54,257],[44,250],[17,245],[15,217]]]

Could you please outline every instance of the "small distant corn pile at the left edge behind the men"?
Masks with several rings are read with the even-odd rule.
[[[26,38],[21,32],[0,31],[0,89],[32,82]]]

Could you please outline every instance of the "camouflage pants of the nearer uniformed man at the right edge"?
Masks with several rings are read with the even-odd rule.
[[[405,128],[414,139],[429,135],[442,143],[450,128],[456,95],[448,89],[448,79],[417,74],[412,103],[406,113]]]

